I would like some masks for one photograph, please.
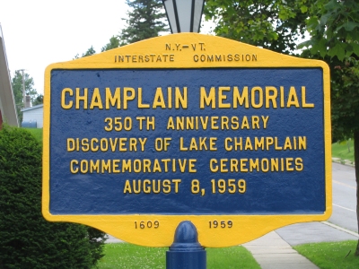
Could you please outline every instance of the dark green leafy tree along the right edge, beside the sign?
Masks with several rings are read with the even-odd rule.
[[[307,21],[311,39],[302,47],[331,69],[333,136],[355,142],[356,214],[359,229],[359,4],[356,0],[319,0]],[[359,240],[355,250],[359,256]]]

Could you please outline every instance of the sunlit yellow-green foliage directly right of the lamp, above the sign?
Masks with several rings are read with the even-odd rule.
[[[290,54],[304,35],[308,5],[314,0],[208,0],[206,20],[215,34]]]

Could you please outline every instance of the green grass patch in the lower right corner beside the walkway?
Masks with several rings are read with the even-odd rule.
[[[320,269],[358,269],[359,257],[354,256],[357,241],[304,244],[293,247]],[[349,255],[347,255],[350,252]]]

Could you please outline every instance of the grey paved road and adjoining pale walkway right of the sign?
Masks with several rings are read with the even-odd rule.
[[[357,232],[355,187],[354,169],[333,163],[333,214],[329,221],[293,224],[243,246],[250,250],[262,269],[318,268],[292,247],[305,243],[357,240],[359,236],[353,232]]]

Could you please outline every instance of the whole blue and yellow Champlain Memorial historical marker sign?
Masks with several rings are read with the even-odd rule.
[[[206,247],[331,213],[328,66],[193,33],[46,70],[43,214]]]

